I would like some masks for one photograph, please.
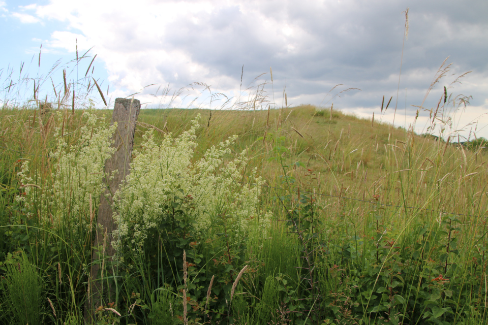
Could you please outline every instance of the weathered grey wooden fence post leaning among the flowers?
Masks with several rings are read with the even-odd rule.
[[[134,145],[134,132],[140,110],[141,103],[135,99],[117,98],[113,106],[112,123],[117,122],[117,129],[113,136],[113,146],[117,150],[105,162],[103,182],[107,188],[102,193],[98,210],[97,224],[101,224],[102,229],[97,227],[97,235],[94,243],[95,249],[92,253],[92,268],[88,282],[89,291],[84,313],[84,318],[87,323],[93,322],[95,319],[95,311],[98,307],[102,306],[104,302],[107,305],[109,302],[112,302],[110,299],[113,298],[113,288],[110,285],[106,285],[106,281],[103,281],[104,270],[101,270],[101,267],[103,265],[105,270],[112,270],[111,262],[115,254],[115,249],[111,245],[113,240],[112,233],[117,228],[117,224],[112,219],[112,196],[118,189],[120,183],[129,174],[132,146]],[[118,173],[113,178],[108,178],[114,170],[118,170]],[[103,251],[104,248],[105,250]],[[102,263],[102,259],[104,259],[104,263]]]

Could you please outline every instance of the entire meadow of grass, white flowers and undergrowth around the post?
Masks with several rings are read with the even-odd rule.
[[[446,88],[422,135],[383,123],[384,99],[373,119],[258,93],[141,110],[113,259],[94,245],[111,111],[55,89],[0,111],[0,322],[488,321],[488,151],[452,132]]]

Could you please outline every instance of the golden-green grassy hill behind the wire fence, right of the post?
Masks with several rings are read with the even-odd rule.
[[[270,110],[269,114],[212,111],[211,116],[206,110],[142,110],[139,121],[179,134],[196,114],[201,115],[202,124],[200,152],[238,135],[235,152],[249,149],[251,166],[258,167],[271,186],[283,185],[279,180],[282,164],[292,166],[300,161],[301,168],[294,165],[285,172],[302,190],[459,214],[486,211],[485,150],[438,142],[435,137],[340,111],[333,110],[331,116],[329,109],[310,105]],[[156,134],[162,136],[159,131]],[[281,159],[277,145],[286,149]],[[310,173],[316,178],[313,182],[305,177]],[[338,201],[327,200],[335,201],[332,205]]]

